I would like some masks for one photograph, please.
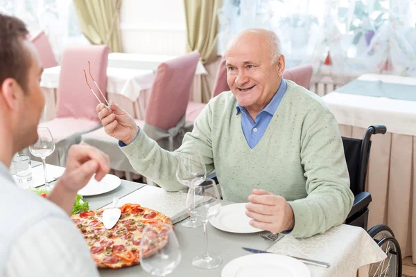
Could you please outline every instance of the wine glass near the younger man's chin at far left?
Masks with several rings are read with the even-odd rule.
[[[33,156],[41,158],[44,166],[44,177],[46,190],[51,190],[51,184],[48,183],[48,177],[46,176],[46,157],[53,153],[55,150],[55,143],[51,132],[47,127],[37,127],[37,134],[39,139],[34,145],[29,146],[29,151]]]

